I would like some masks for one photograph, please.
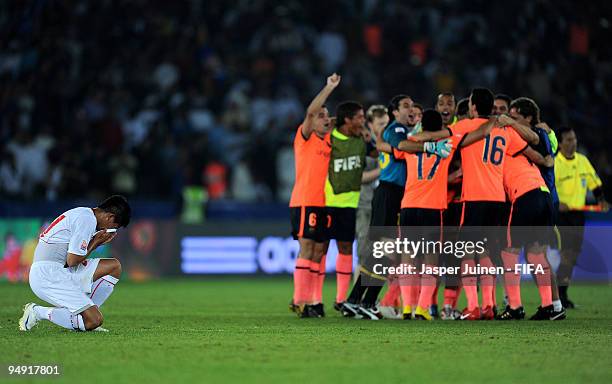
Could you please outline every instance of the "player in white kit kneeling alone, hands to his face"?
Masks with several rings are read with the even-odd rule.
[[[40,234],[30,268],[30,287],[53,305],[28,303],[19,329],[29,331],[40,320],[61,327],[102,330],[100,306],[121,275],[117,259],[89,259],[98,246],[110,242],[117,228],[126,227],[131,209],[123,196],[111,196],[96,208],[64,212]]]

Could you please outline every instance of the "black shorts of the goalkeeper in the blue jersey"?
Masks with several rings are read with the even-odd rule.
[[[399,212],[404,197],[404,187],[381,181],[374,190],[372,197],[372,219],[370,220],[370,239],[379,240],[382,237],[397,237]],[[386,227],[386,228],[384,228]]]

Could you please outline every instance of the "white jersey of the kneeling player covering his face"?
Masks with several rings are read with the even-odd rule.
[[[68,253],[87,255],[96,233],[96,216],[91,208],[78,207],[62,213],[40,234],[34,260],[66,262]]]

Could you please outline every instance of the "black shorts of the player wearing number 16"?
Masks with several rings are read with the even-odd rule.
[[[506,203],[501,201],[466,201],[463,203],[460,237],[464,241],[484,241],[487,248],[499,244],[505,237],[508,224],[504,217]],[[506,220],[504,222],[504,220]]]

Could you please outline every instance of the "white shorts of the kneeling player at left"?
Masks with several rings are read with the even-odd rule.
[[[64,268],[54,261],[37,261],[30,268],[30,288],[36,296],[56,307],[81,313],[94,305],[89,298],[93,276],[100,259],[86,259]]]

